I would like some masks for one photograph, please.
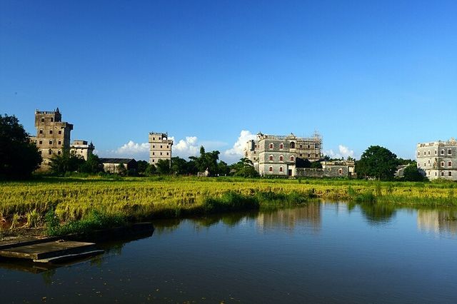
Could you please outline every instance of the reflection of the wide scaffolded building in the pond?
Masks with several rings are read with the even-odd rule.
[[[261,230],[283,228],[294,230],[296,226],[311,226],[315,231],[321,229],[321,204],[308,203],[293,209],[282,209],[273,213],[260,213],[256,220]]]

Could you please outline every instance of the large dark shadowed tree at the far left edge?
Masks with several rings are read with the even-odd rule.
[[[0,178],[26,178],[39,168],[41,155],[16,116],[0,115]]]

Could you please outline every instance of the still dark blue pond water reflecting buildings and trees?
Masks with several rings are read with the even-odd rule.
[[[59,268],[0,263],[1,303],[457,303],[457,210],[313,203],[156,221]]]

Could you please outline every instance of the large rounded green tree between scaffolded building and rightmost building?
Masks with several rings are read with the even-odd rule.
[[[387,148],[369,146],[356,163],[358,176],[388,180],[393,178],[397,168],[397,156]]]

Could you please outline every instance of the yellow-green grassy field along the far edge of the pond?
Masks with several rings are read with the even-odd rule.
[[[41,178],[0,183],[3,229],[37,227],[52,208],[59,223],[94,211],[126,221],[281,208],[310,198],[401,206],[457,206],[457,183],[243,178]],[[456,192],[457,195],[457,192]]]

